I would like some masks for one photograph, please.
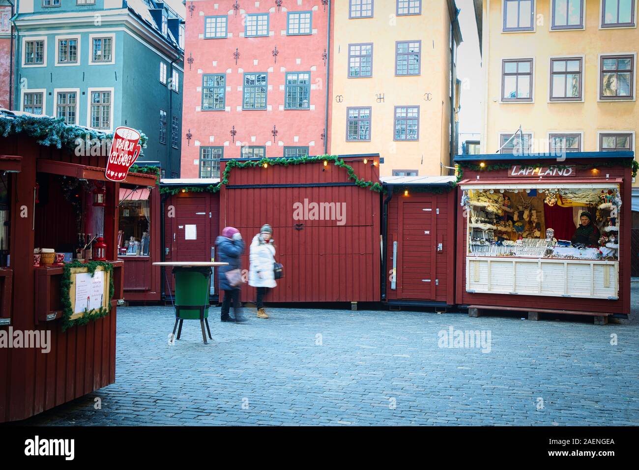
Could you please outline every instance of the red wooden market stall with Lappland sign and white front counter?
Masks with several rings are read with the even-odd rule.
[[[470,315],[629,314],[633,152],[565,156],[456,157],[456,302]]]

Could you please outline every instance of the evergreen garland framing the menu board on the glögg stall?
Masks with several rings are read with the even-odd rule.
[[[93,278],[95,270],[102,266],[105,272],[109,273],[109,299],[107,299],[107,308],[100,306],[99,309],[93,309],[87,311],[84,309],[84,315],[80,318],[71,319],[73,315],[73,309],[71,307],[70,290],[71,290],[71,268],[87,268],[89,274]],[[65,263],[63,267],[62,279],[60,280],[60,300],[62,303],[62,331],[66,331],[75,325],[86,325],[91,321],[95,321],[98,318],[105,317],[111,309],[111,299],[115,293],[115,287],[113,284],[113,265],[104,261],[89,261],[88,263],[82,263],[77,260],[73,260],[70,263]]]

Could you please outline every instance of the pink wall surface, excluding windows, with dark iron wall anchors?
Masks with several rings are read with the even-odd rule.
[[[321,134],[325,127],[327,68],[322,54],[327,48],[328,8],[325,11],[321,0],[302,0],[300,4],[288,0],[277,11],[274,1],[244,0],[238,2],[240,10],[234,15],[234,3],[234,0],[199,1],[193,3],[192,13],[187,8],[185,57],[188,60],[192,56],[193,62],[189,67],[185,61],[182,178],[199,176],[200,146],[224,146],[224,158],[240,157],[238,142],[266,146],[266,157],[282,157],[284,146],[308,146],[311,155],[324,153]],[[287,8],[290,12],[312,11],[313,34],[287,36]],[[243,37],[244,15],[266,12],[270,12],[270,36]],[[204,18],[218,15],[227,15],[228,33],[232,37],[204,39]],[[275,46],[279,51],[277,63],[272,54]],[[237,65],[233,58],[236,48],[240,53]],[[238,87],[242,87],[245,72],[268,73],[267,110],[242,110],[243,92]],[[284,109],[286,72],[311,72],[311,109]],[[226,110],[199,111],[203,74],[224,73]],[[273,125],[277,129],[274,138]],[[230,134],[233,126],[235,142]],[[185,137],[189,129],[190,142]]]

